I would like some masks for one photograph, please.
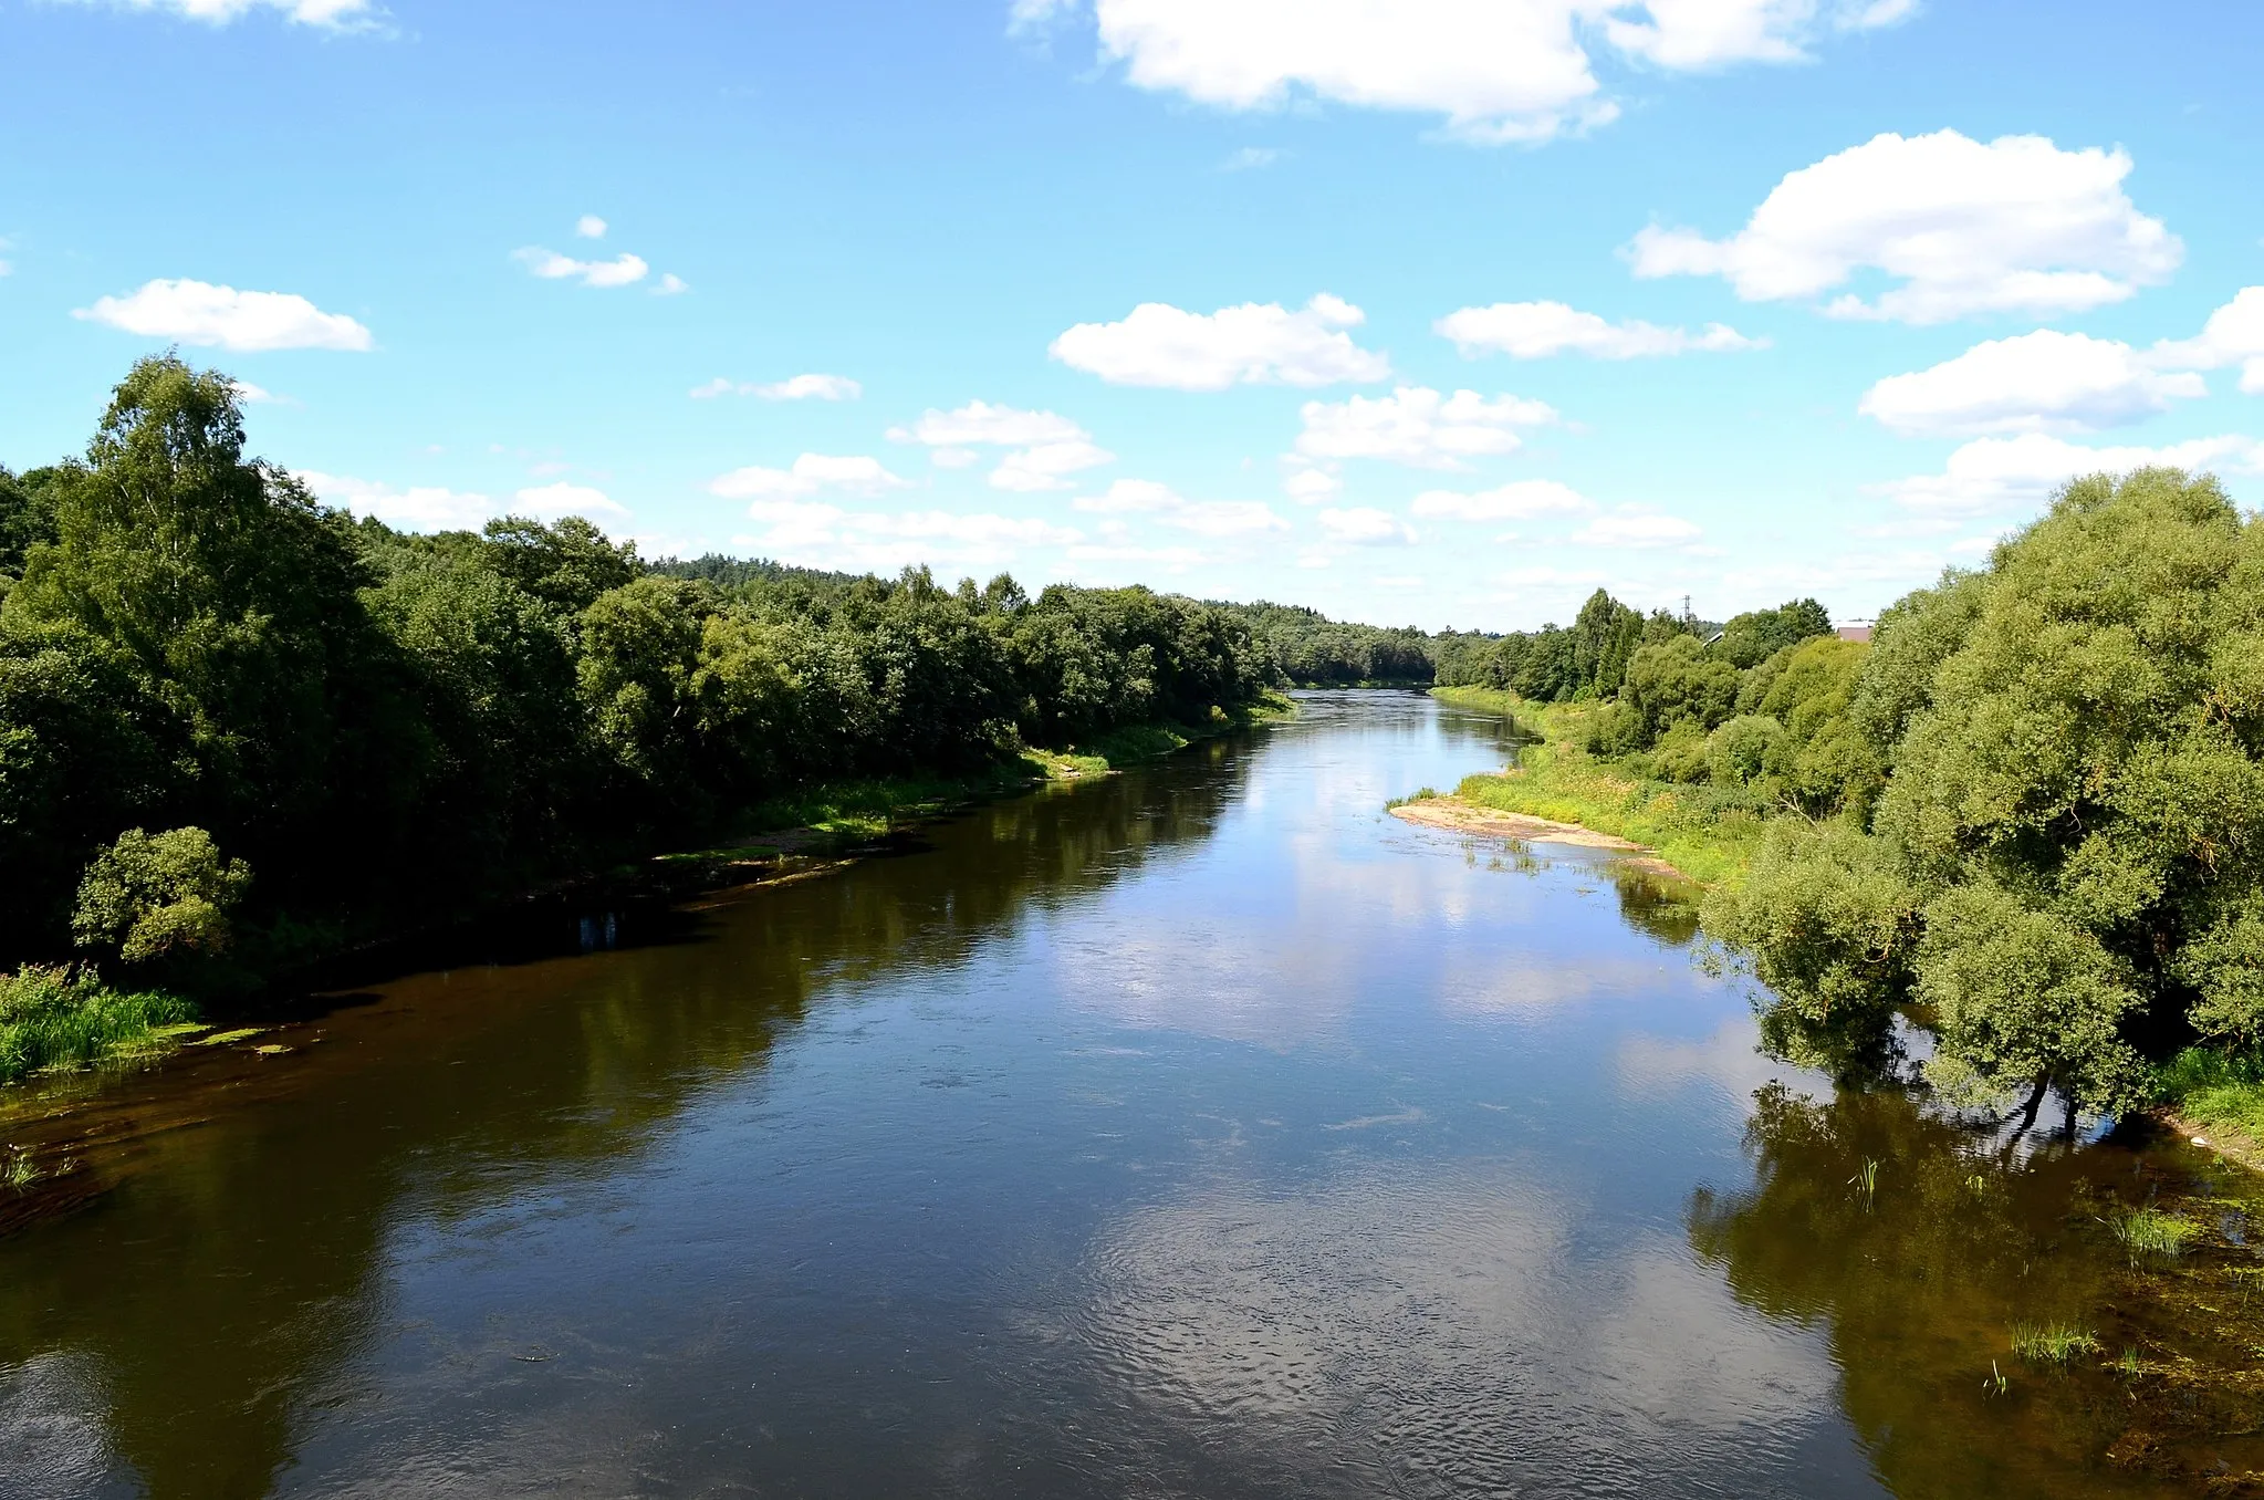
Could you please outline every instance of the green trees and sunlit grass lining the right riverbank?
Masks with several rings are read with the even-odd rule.
[[[2264,521],[2214,478],[2078,480],[1870,644],[1811,600],[1714,630],[1598,594],[1438,662],[1573,705],[1465,795],[1736,850],[1705,927],[1777,1054],[1872,1076],[1915,1026],[1943,1097],[2031,1124],[2051,1088],[2264,1079]]]

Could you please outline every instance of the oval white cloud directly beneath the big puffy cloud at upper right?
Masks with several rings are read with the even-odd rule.
[[[2198,374],[2160,372],[2130,344],[2038,329],[1974,344],[1931,369],[1888,376],[1856,406],[1888,428],[1927,437],[2087,433],[2205,397]]]

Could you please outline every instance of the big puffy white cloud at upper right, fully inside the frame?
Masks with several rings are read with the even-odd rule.
[[[1970,313],[2081,313],[2164,281],[2185,258],[2121,188],[2130,156],[2042,136],[1872,136],[1780,181],[1725,240],[1635,236],[1637,276],[1725,276],[1746,301],[1820,297],[1875,270],[1899,285],[1834,317],[1913,324]]]

